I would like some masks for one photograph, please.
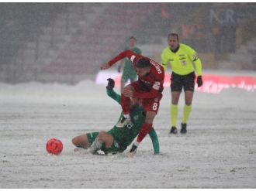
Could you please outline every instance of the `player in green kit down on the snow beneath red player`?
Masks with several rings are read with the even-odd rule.
[[[106,93],[120,104],[121,97],[113,90],[115,82],[112,79],[108,80]],[[120,114],[119,119],[122,117],[123,112]],[[143,107],[138,104],[137,99],[131,101],[130,118],[131,122],[123,126],[123,128],[118,128],[115,125],[109,131],[97,131],[79,135],[74,137],[72,142],[77,147],[90,148],[90,152],[93,154],[97,154],[99,150],[102,150],[105,154],[123,152],[137,137],[141,125],[144,124],[145,112]],[[159,142],[154,128],[150,130],[149,135],[153,144],[154,154],[159,154]]]

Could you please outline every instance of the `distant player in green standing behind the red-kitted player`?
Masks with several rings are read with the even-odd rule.
[[[133,51],[133,53],[141,54],[141,50],[136,46],[137,39],[134,36],[131,36],[129,38],[129,46],[125,48],[125,50],[130,49]],[[125,86],[126,82],[130,80],[130,83],[133,81],[137,80],[137,73],[136,70],[133,68],[133,63],[128,59],[124,58],[119,67],[118,67],[118,72],[121,72],[121,67],[124,62],[124,67],[123,67],[123,74],[121,78],[121,92],[123,92],[123,87]]]

